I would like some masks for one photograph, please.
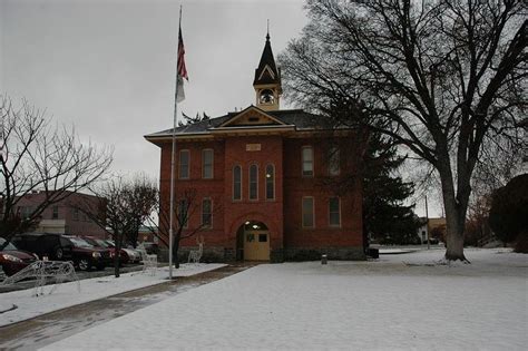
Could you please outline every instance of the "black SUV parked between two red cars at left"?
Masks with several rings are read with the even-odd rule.
[[[26,233],[17,234],[12,241],[20,250],[29,251],[40,260],[71,261],[74,260],[74,244],[61,234]]]

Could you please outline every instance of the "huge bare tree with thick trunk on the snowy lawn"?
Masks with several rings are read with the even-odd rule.
[[[527,143],[518,127],[527,106],[525,2],[312,0],[306,7],[311,22],[280,57],[287,97],[314,109],[334,98],[361,101],[355,123],[432,165],[442,186],[446,259],[467,261],[466,214],[482,154],[505,140]]]

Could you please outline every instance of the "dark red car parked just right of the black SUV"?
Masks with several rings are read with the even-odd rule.
[[[110,251],[90,245],[85,240],[77,236],[63,236],[74,245],[74,263],[81,271],[89,271],[92,267],[104,270],[111,262]]]

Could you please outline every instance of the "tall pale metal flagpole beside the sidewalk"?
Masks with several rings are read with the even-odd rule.
[[[178,30],[182,30],[182,4],[179,6],[179,26]],[[179,31],[178,31],[178,45],[176,46],[176,52],[179,48]],[[170,214],[169,214],[169,230],[168,230],[168,279],[173,279],[173,237],[174,237],[174,168],[176,157],[176,121],[178,117],[178,58],[176,53],[176,90],[174,92],[174,116],[173,116],[173,150],[170,154]],[[177,260],[177,257],[176,257]]]

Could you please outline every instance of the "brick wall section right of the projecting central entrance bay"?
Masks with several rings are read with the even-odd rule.
[[[302,147],[312,146],[314,155],[314,176],[302,175]],[[286,139],[284,142],[284,237],[286,247],[335,247],[362,246],[362,201],[361,184],[355,184],[353,192],[348,192],[341,199],[341,227],[329,225],[329,198],[336,196],[323,184],[327,177],[327,164],[324,157],[324,140]],[[354,160],[345,149],[340,153],[341,173],[351,169]],[[302,198],[314,197],[313,228],[302,227]]]

